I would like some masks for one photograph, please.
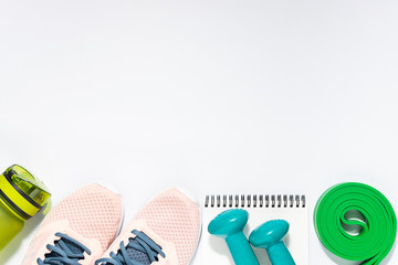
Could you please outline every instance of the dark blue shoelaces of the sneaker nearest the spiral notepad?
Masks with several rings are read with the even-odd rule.
[[[149,236],[137,230],[133,230],[134,239],[128,240],[128,244],[125,246],[124,242],[121,242],[121,248],[115,254],[111,252],[111,257],[101,258],[95,262],[95,265],[147,265],[158,261],[158,255],[166,257],[161,247],[156,244]],[[130,255],[130,251],[139,252],[145,255],[149,263],[142,263],[137,256]]]

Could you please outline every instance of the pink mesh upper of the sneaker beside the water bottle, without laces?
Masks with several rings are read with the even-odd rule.
[[[118,233],[123,219],[122,198],[100,184],[77,189],[44,219],[33,236],[22,265],[36,265],[54,245],[56,233],[64,233],[86,245],[92,255],[100,257]],[[85,254],[87,255],[87,253]],[[86,264],[85,262],[81,262]]]

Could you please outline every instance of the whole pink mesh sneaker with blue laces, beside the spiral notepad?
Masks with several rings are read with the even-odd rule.
[[[148,202],[96,265],[187,265],[200,236],[198,204],[178,189]]]

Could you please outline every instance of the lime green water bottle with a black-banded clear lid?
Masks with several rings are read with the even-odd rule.
[[[0,251],[50,197],[48,188],[21,166],[13,165],[0,174]]]

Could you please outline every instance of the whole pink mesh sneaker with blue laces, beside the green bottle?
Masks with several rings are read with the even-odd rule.
[[[63,199],[44,219],[22,265],[92,265],[117,236],[122,198],[90,184]]]

